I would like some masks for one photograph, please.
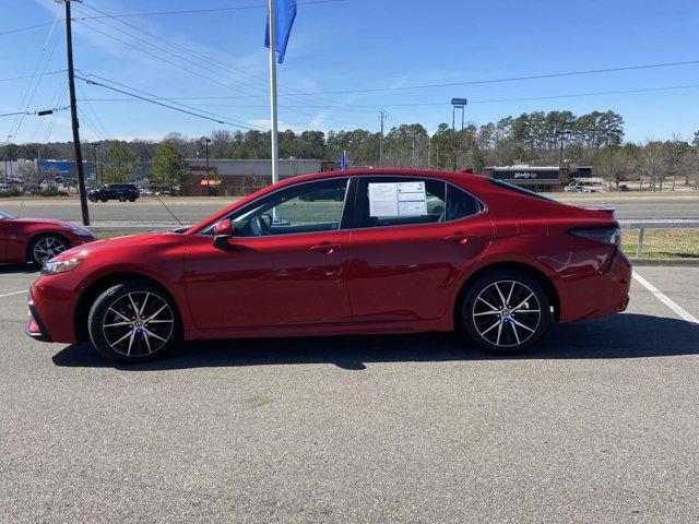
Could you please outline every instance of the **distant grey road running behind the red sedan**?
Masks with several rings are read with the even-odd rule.
[[[617,218],[699,219],[699,192],[682,191],[655,194],[631,193],[550,193],[561,202],[580,206],[605,205],[616,207]],[[194,224],[208,215],[238,200],[236,196],[185,196],[158,199],[146,196],[134,203],[106,202],[91,203],[90,214],[94,225],[154,225],[176,224],[175,215],[182,224]],[[168,211],[171,211],[173,214]],[[12,215],[38,216],[80,222],[80,202],[76,198],[0,199],[0,211]]]

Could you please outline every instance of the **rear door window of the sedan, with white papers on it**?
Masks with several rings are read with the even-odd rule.
[[[362,177],[354,227],[434,224],[446,219],[447,183],[417,177]]]

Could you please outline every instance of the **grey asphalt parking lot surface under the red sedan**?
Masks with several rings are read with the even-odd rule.
[[[0,522],[699,522],[699,267],[637,272],[677,309],[635,281],[518,358],[424,334],[116,369],[26,337],[35,274],[0,269]]]

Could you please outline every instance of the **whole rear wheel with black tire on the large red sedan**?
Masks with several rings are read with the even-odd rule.
[[[475,282],[463,296],[459,313],[464,334],[497,355],[530,348],[550,323],[550,306],[541,284],[525,273],[507,270]]]

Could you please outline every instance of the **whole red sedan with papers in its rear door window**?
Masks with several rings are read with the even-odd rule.
[[[60,254],[32,286],[27,332],[126,362],[182,338],[454,329],[512,353],[552,321],[623,311],[630,279],[609,210],[459,172],[334,171]]]

